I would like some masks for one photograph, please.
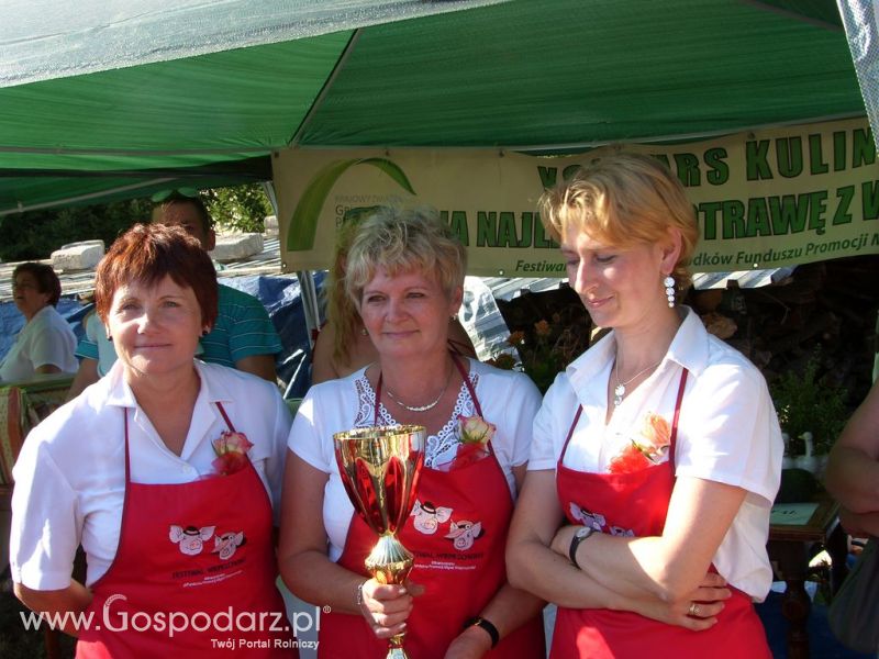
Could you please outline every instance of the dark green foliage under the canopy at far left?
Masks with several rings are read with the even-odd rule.
[[[5,261],[45,259],[67,243],[102,239],[104,245],[137,222],[149,221],[148,200],[29,211],[0,217],[0,258]]]

